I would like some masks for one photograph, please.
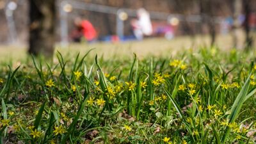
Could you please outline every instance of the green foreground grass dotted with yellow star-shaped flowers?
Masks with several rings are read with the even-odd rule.
[[[56,52],[0,67],[0,143],[255,143],[255,51]]]

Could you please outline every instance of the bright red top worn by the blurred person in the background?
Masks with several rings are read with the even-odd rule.
[[[88,20],[83,20],[81,22],[81,28],[86,40],[90,41],[97,38],[97,33],[95,28],[93,27],[92,23],[89,22]]]

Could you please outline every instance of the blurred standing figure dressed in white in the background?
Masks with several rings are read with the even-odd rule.
[[[134,36],[138,40],[142,40],[144,36],[152,35],[152,24],[150,20],[150,15],[144,8],[140,8],[137,11],[137,17],[137,19],[131,20],[131,25]]]

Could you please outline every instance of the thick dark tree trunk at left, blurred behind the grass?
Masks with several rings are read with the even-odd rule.
[[[51,57],[54,52],[54,0],[29,0],[29,53]]]

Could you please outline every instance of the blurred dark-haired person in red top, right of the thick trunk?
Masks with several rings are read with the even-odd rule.
[[[97,32],[89,20],[82,20],[77,17],[74,20],[76,28],[72,31],[71,37],[74,42],[81,42],[81,38],[84,37],[89,43],[97,40]]]

